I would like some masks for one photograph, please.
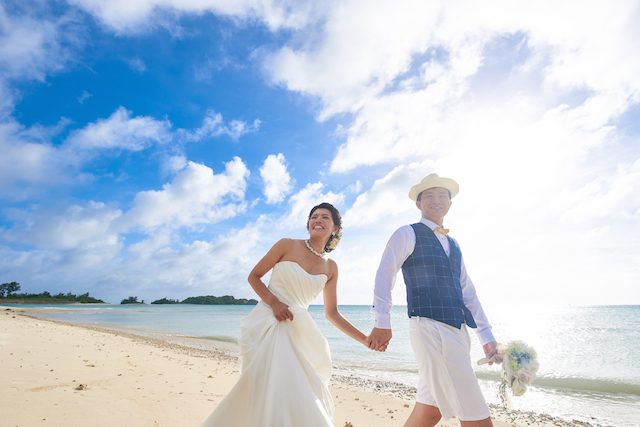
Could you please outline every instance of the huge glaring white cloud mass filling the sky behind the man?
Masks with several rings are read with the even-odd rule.
[[[447,223],[488,300],[516,280],[574,303],[615,281],[621,301],[638,273],[615,248],[627,263],[640,250],[640,153],[615,127],[640,101],[637,2],[390,4],[342,2],[308,43],[264,56],[274,82],[321,100],[320,120],[352,117],[332,172],[383,171],[345,215],[345,261],[365,266],[346,277],[372,280],[390,232],[417,219],[409,186],[436,171],[461,183]]]

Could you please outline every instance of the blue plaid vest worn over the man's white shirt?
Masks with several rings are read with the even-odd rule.
[[[428,317],[458,329],[463,323],[475,328],[476,322],[462,299],[462,253],[458,243],[447,236],[447,256],[428,226],[417,223],[411,227],[416,233],[416,247],[402,264],[409,317]]]

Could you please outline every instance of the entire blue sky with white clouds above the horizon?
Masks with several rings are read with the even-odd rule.
[[[637,0],[0,0],[0,282],[254,297],[327,201],[338,301],[370,304],[435,172],[485,306],[640,304],[638,22]]]

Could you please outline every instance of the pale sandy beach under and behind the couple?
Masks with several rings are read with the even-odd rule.
[[[198,426],[239,375],[237,356],[223,346],[195,348],[0,310],[2,426]],[[355,378],[334,377],[331,388],[338,427],[402,426],[413,405],[411,390]],[[520,425],[575,424],[529,414]]]

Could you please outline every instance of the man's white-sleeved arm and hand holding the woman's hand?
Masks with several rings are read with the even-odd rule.
[[[372,350],[384,351],[391,340],[391,291],[395,285],[398,270],[413,252],[415,242],[413,228],[405,225],[391,235],[382,253],[373,291],[373,311],[376,321],[369,335],[369,348]]]

